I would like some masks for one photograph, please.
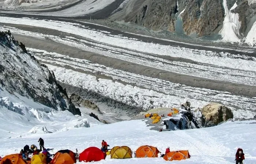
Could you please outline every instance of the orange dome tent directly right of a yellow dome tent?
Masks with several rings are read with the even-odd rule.
[[[156,147],[144,145],[136,150],[136,157],[158,157],[159,150]]]

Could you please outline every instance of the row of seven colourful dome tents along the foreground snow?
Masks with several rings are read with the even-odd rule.
[[[144,145],[139,147],[135,152],[135,157],[158,157],[159,150],[156,147]],[[89,147],[79,154],[79,161],[92,162],[100,161],[106,158],[106,153],[97,147]],[[132,158],[132,151],[127,146],[116,146],[110,150],[111,159],[128,159]],[[182,160],[190,158],[188,151],[173,151],[166,153],[163,159],[167,161]],[[53,160],[49,164],[74,164],[76,163],[76,154],[71,150],[60,150],[54,154]],[[31,161],[22,159],[20,154],[12,154],[5,156],[0,164],[47,164],[46,156],[42,153],[34,155]]]

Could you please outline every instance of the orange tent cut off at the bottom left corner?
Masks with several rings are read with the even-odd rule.
[[[11,154],[3,157],[0,164],[30,164],[31,161],[26,161],[22,159],[20,154]]]

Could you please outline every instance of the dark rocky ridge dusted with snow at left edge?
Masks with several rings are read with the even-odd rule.
[[[53,72],[27,53],[10,31],[0,32],[0,88],[56,110],[81,114],[57,83]]]

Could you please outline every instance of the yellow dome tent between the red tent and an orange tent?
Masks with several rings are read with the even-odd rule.
[[[110,151],[110,155],[110,158],[114,159],[132,158],[132,151],[127,146],[113,147]]]

